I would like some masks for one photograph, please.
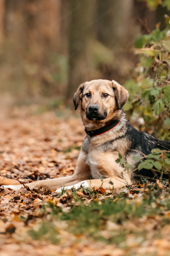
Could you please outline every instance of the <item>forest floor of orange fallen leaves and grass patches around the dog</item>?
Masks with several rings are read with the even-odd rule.
[[[85,138],[70,110],[1,113],[1,176],[73,174]],[[170,255],[170,195],[161,183],[114,191],[0,189],[0,255]]]

